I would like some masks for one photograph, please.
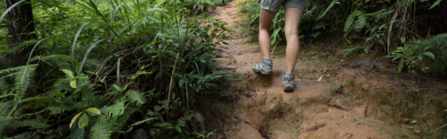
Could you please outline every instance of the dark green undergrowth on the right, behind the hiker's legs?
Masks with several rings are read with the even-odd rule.
[[[251,28],[257,30],[259,18],[260,0],[247,0],[242,3],[241,9],[249,16]],[[362,46],[346,49],[349,53],[354,50],[369,49],[378,51],[381,56],[397,54],[393,49],[405,44],[400,38],[411,40],[437,40],[438,43],[409,45],[409,47],[420,47],[412,49],[426,49],[434,54],[434,60],[423,58],[422,61],[432,61],[430,65],[437,73],[446,72],[446,36],[447,32],[447,1],[354,1],[354,0],[332,0],[332,1],[308,1],[307,12],[302,17],[300,24],[300,38],[302,42],[312,42],[320,37],[330,35],[342,35],[350,41],[360,41]],[[437,37],[433,37],[437,35]],[[284,43],[284,10],[274,17],[272,23],[272,52],[279,43]],[[439,42],[441,41],[441,42]],[[444,41],[444,42],[443,42]],[[413,41],[406,41],[413,43]],[[427,48],[426,48],[427,47]],[[398,50],[400,51],[400,50]],[[444,54],[443,54],[444,53]],[[411,63],[406,64],[411,67]],[[402,66],[400,66],[402,67]],[[420,67],[420,66],[416,66]],[[411,68],[410,68],[411,69]],[[422,66],[416,70],[426,70]],[[409,70],[413,71],[413,70]]]

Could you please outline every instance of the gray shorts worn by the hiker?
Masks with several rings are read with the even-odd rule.
[[[261,0],[261,8],[264,10],[278,12],[280,6],[284,6],[284,9],[294,7],[305,10],[307,0]]]

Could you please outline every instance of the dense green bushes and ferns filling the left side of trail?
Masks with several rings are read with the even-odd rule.
[[[189,3],[203,1],[189,0]],[[37,40],[11,67],[3,32],[0,138],[195,138],[198,99],[225,72],[212,60],[226,23],[182,1],[32,1]],[[4,23],[2,23],[4,24]],[[5,26],[2,26],[4,28]],[[3,64],[4,64],[3,63]],[[212,134],[212,133],[210,133]],[[140,137],[138,137],[140,136]]]

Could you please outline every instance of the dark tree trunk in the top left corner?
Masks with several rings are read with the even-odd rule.
[[[20,0],[3,0],[5,9]],[[26,0],[15,6],[6,15],[10,47],[20,47],[12,57],[12,64],[22,65],[27,62],[27,56],[31,51],[31,44],[23,44],[27,40],[36,38],[34,33],[34,17],[31,8],[31,0]]]

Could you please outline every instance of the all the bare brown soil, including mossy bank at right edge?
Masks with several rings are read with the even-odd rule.
[[[232,76],[242,77],[230,83],[231,97],[210,100],[213,112],[207,117],[215,117],[215,138],[421,138],[423,133],[416,131],[423,132],[423,124],[437,126],[445,122],[445,113],[439,111],[447,104],[442,99],[430,99],[447,98],[445,83],[421,84],[390,72],[350,67],[349,61],[337,56],[321,56],[323,51],[312,56],[316,44],[302,45],[304,50],[295,67],[298,88],[284,92],[284,47],[277,49],[272,58],[272,76],[252,72],[251,66],[262,56],[258,44],[249,42],[251,36],[241,31],[247,23],[245,14],[237,9],[238,2],[217,7],[210,14],[235,29],[230,33],[234,39],[217,47],[219,58],[215,60],[223,69],[232,69]],[[323,80],[317,82],[319,76]],[[430,94],[411,92],[414,88]],[[409,129],[404,118],[420,122],[411,124],[415,129]]]

